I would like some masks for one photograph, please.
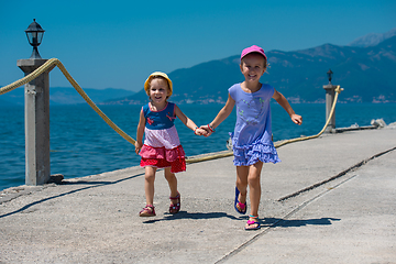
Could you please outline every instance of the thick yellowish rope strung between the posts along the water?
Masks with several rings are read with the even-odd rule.
[[[114,122],[112,122],[96,105],[95,102],[88,97],[88,95],[82,90],[82,88],[77,84],[77,81],[72,77],[72,75],[66,70],[65,66],[61,63],[59,59],[57,58],[51,58],[47,62],[45,62],[42,66],[40,66],[37,69],[35,69],[34,72],[32,72],[31,74],[26,75],[25,77],[8,85],[4,87],[0,88],[0,96],[9,92],[18,87],[21,87],[30,81],[32,81],[33,79],[37,78],[40,75],[42,75],[45,72],[51,72],[55,66],[57,66],[61,72],[63,73],[63,75],[66,77],[66,79],[70,82],[70,85],[77,90],[77,92],[84,98],[84,100],[105,120],[105,122],[112,128],[117,133],[119,133],[124,140],[127,140],[128,142],[130,142],[131,144],[135,143],[135,140],[133,140],[130,135],[128,135],[124,131],[122,131]],[[298,141],[305,141],[305,140],[310,140],[310,139],[315,139],[320,136],[326,128],[328,127],[334,109],[336,109],[336,103],[337,103],[337,99],[339,94],[342,91],[343,89],[340,88],[340,86],[337,86],[336,88],[336,97],[331,107],[331,111],[329,114],[329,118],[323,127],[323,129],[316,135],[310,135],[310,136],[304,136],[304,138],[297,138],[297,139],[292,139],[292,140],[285,140],[282,141],[279,143],[275,143],[275,147],[280,147],[283,145],[289,144],[289,143],[294,143],[294,142],[298,142]],[[186,163],[197,163],[197,162],[205,162],[205,161],[210,161],[210,160],[215,160],[215,158],[221,158],[221,157],[228,157],[228,156],[232,156],[233,153],[232,151],[229,152],[222,152],[222,153],[216,153],[216,154],[208,154],[205,156],[198,156],[198,157],[193,157],[193,158],[188,158],[186,160]]]

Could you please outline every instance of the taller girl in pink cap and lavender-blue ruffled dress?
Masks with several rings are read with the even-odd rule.
[[[233,163],[237,166],[234,208],[239,213],[246,213],[249,186],[251,210],[245,230],[256,230],[260,229],[260,175],[263,163],[280,162],[272,142],[271,98],[274,98],[286,110],[294,123],[301,124],[302,118],[294,112],[280,92],[270,85],[260,82],[260,78],[267,68],[267,57],[263,48],[253,45],[243,50],[240,68],[245,80],[229,89],[226,106],[212,122],[201,128],[211,134],[237,105],[237,123],[234,132],[231,133]]]

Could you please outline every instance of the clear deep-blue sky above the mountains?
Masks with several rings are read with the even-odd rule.
[[[346,45],[396,28],[395,0],[243,2],[0,0],[0,86],[23,77],[16,61],[32,53],[24,30],[33,19],[45,30],[41,56],[59,58],[82,88],[135,91],[152,72],[189,68],[253,44]],[[50,79],[70,87],[57,68]]]

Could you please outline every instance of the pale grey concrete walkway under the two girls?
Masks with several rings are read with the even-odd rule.
[[[395,125],[279,147],[283,162],[262,172],[263,228],[249,232],[233,209],[232,157],[179,174],[175,216],[162,172],[157,216],[138,216],[139,167],[8,189],[0,263],[396,263],[395,147]]]

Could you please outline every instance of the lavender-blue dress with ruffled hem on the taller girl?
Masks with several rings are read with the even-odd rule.
[[[235,166],[280,162],[272,142],[271,107],[274,87],[262,85],[256,92],[242,90],[241,84],[229,89],[237,105],[237,123],[231,133]]]

